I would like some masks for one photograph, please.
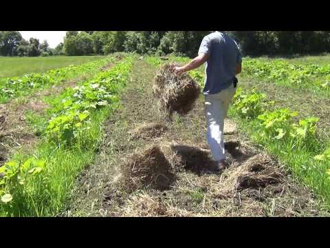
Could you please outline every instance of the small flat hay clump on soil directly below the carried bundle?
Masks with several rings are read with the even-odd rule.
[[[131,138],[157,138],[168,130],[162,123],[147,123],[135,128],[130,134]]]

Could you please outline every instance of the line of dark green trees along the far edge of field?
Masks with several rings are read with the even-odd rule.
[[[211,31],[67,31],[63,43],[25,41],[18,31],[0,31],[2,56],[91,55],[112,52],[195,56]],[[228,31],[245,56],[330,52],[330,31]]]

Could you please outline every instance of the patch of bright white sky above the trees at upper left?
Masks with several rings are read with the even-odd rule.
[[[66,31],[19,31],[25,40],[30,38],[39,39],[40,43],[47,40],[50,48],[55,48],[56,45],[63,42]]]

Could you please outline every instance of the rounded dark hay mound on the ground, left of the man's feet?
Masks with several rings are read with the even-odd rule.
[[[131,154],[122,166],[122,183],[130,191],[148,187],[168,189],[174,177],[170,164],[156,145]]]

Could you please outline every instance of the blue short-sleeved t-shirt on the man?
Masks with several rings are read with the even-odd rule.
[[[208,54],[203,94],[217,94],[232,84],[242,54],[234,39],[222,32],[208,34],[201,41],[198,54]]]

